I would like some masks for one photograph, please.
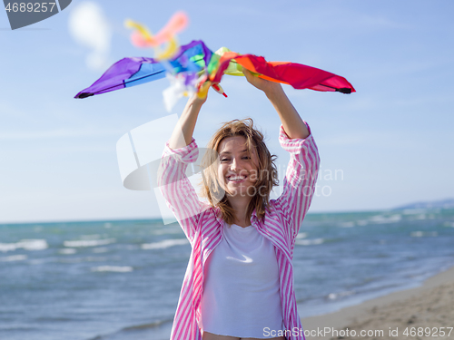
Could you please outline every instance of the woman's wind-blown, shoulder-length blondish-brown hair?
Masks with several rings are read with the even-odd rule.
[[[223,123],[222,127],[214,132],[212,139],[208,142],[207,152],[201,162],[202,189],[200,196],[208,199],[212,207],[221,209],[222,219],[228,224],[234,223],[234,210],[227,199],[225,191],[218,180],[219,154],[218,148],[225,138],[242,136],[246,139],[246,148],[249,154],[255,150],[258,159],[258,176],[254,183],[255,193],[246,210],[246,218],[255,214],[258,219],[265,215],[265,209],[270,205],[270,193],[273,186],[279,185],[278,171],[274,161],[276,155],[271,155],[263,141],[263,134],[254,128],[252,118],[244,120],[233,120]],[[249,190],[248,190],[249,191]]]

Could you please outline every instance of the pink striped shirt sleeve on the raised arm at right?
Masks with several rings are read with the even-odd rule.
[[[281,196],[276,199],[278,209],[283,212],[285,224],[290,229],[291,241],[298,234],[302,220],[311,206],[315,191],[315,183],[320,167],[320,157],[317,145],[310,135],[305,139],[290,139],[282,125],[279,141],[285,151],[290,152],[290,161],[287,167]]]

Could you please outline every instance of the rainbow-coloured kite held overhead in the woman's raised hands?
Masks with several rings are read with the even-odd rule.
[[[132,36],[134,45],[157,49],[159,45],[167,43],[167,49],[164,52],[156,51],[156,58],[123,58],[90,87],[77,93],[75,98],[153,82],[167,76],[172,86],[163,95],[166,108],[170,111],[178,98],[193,92],[203,97],[210,85],[226,96],[219,86],[223,74],[243,75],[243,67],[263,79],[289,84],[294,89],[355,92],[345,78],[301,63],[267,62],[262,56],[234,53],[225,47],[212,53],[202,41],[192,41],[178,48],[175,33],[186,24],[187,18],[181,13],[176,14],[160,33],[152,36],[141,24],[128,21],[128,26],[136,28]]]

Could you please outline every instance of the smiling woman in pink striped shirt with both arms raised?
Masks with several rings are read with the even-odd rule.
[[[158,176],[192,246],[172,340],[303,339],[291,260],[320,159],[281,84],[244,74],[278,112],[281,147],[291,160],[281,196],[269,199],[277,185],[275,156],[251,119],[228,122],[215,132],[203,160],[202,194],[210,202],[203,203],[185,171],[198,158],[192,132],[205,100],[194,96],[186,104]]]

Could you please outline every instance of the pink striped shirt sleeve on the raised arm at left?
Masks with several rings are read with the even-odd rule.
[[[180,149],[170,149],[165,144],[158,170],[158,185],[167,207],[173,211],[183,232],[192,244],[201,213],[209,205],[199,200],[197,193],[188,180],[187,172],[192,174],[188,165],[199,156],[195,140]]]

